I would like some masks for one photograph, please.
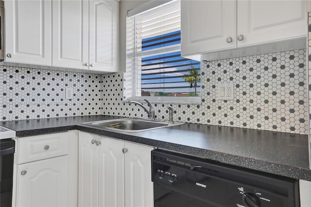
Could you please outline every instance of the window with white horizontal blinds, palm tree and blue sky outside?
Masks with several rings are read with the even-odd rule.
[[[201,64],[180,56],[180,35],[180,0],[128,17],[125,99],[201,101]]]

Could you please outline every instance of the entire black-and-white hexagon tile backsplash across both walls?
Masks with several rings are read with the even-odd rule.
[[[202,104],[173,104],[174,121],[308,134],[306,50],[210,61],[201,64],[201,73]],[[123,72],[2,67],[0,79],[2,121],[94,114],[147,117],[139,106],[122,102]],[[234,100],[216,100],[217,85],[227,82],[234,83]],[[65,99],[66,87],[73,88],[73,100]],[[155,104],[158,118],[169,119],[166,106]]]

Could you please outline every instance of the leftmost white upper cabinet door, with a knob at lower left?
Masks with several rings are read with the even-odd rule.
[[[5,61],[51,66],[51,0],[6,0]]]

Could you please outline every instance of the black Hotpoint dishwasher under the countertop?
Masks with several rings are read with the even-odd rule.
[[[155,207],[299,207],[298,180],[153,150]]]

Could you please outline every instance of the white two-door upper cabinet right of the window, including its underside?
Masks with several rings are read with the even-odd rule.
[[[216,60],[306,48],[304,0],[181,1],[181,53]]]

